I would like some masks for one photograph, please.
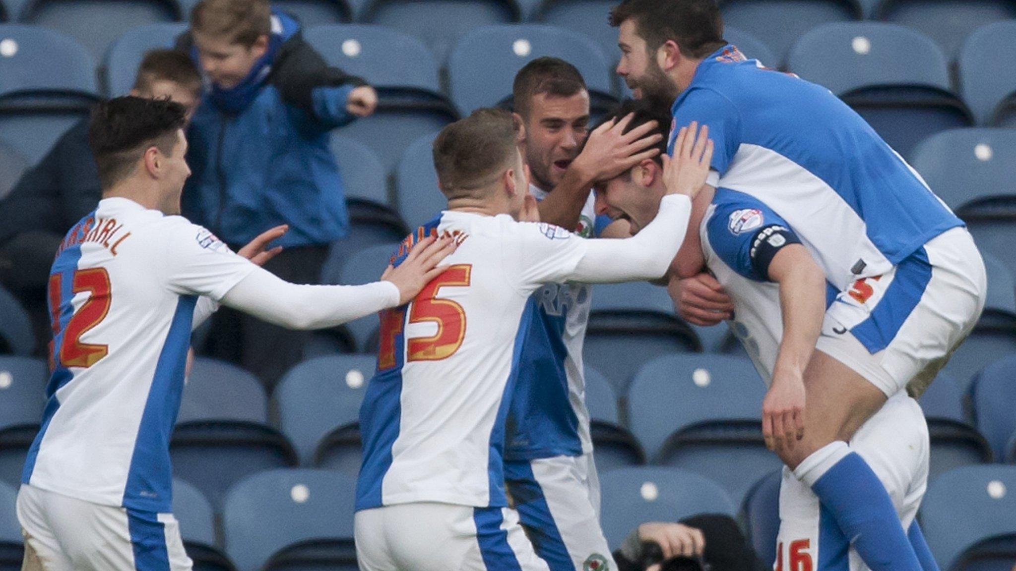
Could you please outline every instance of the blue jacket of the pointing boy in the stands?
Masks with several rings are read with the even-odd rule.
[[[197,52],[188,36],[178,47]],[[360,78],[328,67],[299,23],[272,11],[265,55],[237,86],[206,90],[187,133],[192,175],[184,214],[234,246],[277,225],[285,247],[327,244],[348,233],[348,214],[330,131]]]

